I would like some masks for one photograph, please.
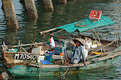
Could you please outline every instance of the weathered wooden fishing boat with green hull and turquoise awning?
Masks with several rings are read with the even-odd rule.
[[[104,21],[103,21],[104,20]],[[105,20],[108,20],[107,22]],[[48,32],[55,33],[58,31],[65,30],[67,32],[74,32],[79,31],[83,32],[89,29],[93,29],[96,27],[106,26],[114,24],[113,21],[111,21],[107,17],[102,17],[101,20],[97,22],[91,22],[89,19],[83,20],[83,23],[80,23],[81,21],[74,22],[72,24],[67,24],[64,26],[60,26],[54,29],[50,29],[47,31],[41,31],[41,34],[45,34]],[[99,22],[99,23],[98,23]],[[80,26],[77,26],[77,23]],[[101,23],[101,25],[99,25]],[[103,23],[103,24],[102,24]],[[83,24],[83,25],[82,25]],[[83,27],[82,27],[83,26]],[[84,27],[85,26],[85,27]],[[53,35],[52,35],[53,36]],[[57,41],[61,46],[60,48],[67,48],[67,44],[72,41],[72,39],[76,37],[73,36],[70,39],[62,39],[61,41]],[[78,35],[77,37],[84,38],[84,35]],[[89,36],[86,36],[89,37]],[[95,40],[93,37],[89,37],[93,41]],[[102,46],[99,46],[97,48],[91,49],[92,51],[98,51],[101,54],[95,54],[95,55],[88,55],[86,66],[83,63],[78,64],[70,64],[70,63],[64,63],[64,59],[59,60],[61,62],[53,63],[53,64],[41,64],[37,61],[38,56],[41,56],[40,53],[32,53],[31,49],[33,46],[41,46],[44,49],[48,49],[49,47],[45,42],[41,43],[32,43],[32,44],[21,44],[21,50],[16,51],[18,48],[18,45],[12,46],[12,45],[5,45],[3,44],[3,58],[5,59],[4,64],[7,67],[7,70],[14,76],[58,76],[58,75],[65,75],[69,72],[74,71],[83,71],[83,70],[91,70],[91,69],[97,69],[100,67],[109,67],[117,62],[118,57],[121,55],[121,45],[117,43],[121,43],[121,41],[118,41],[118,39],[114,41],[109,40],[99,40],[101,42]],[[61,44],[62,43],[62,44]],[[57,46],[57,48],[59,47]],[[19,48],[20,48],[19,47]],[[13,51],[10,51],[13,49]]]

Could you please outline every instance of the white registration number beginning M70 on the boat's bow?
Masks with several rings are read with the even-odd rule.
[[[14,54],[14,59],[18,60],[36,60],[36,56],[33,54]]]

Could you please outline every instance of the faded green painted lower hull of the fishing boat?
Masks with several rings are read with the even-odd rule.
[[[92,63],[86,66],[79,66],[79,67],[48,67],[48,68],[42,68],[42,67],[31,67],[31,66],[25,66],[25,65],[14,65],[14,68],[8,68],[8,71],[13,76],[25,76],[25,77],[32,77],[32,76],[61,76],[65,72],[67,74],[75,71],[85,71],[85,70],[93,70],[101,67],[110,67],[116,63],[118,60],[118,56],[107,59],[105,61],[100,61],[96,63]]]

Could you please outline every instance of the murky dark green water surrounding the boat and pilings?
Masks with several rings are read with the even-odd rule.
[[[15,12],[18,18],[19,30],[11,32],[7,30],[7,25],[3,11],[0,9],[0,44],[2,40],[7,40],[12,44],[21,40],[22,43],[32,42],[35,30],[45,30],[53,27],[61,26],[64,24],[72,23],[80,19],[88,17],[91,10],[101,10],[104,16],[110,17],[115,24],[113,26],[105,26],[95,29],[101,35],[108,36],[110,40],[115,39],[115,28],[121,34],[121,0],[77,0],[76,2],[68,1],[66,5],[60,5],[56,0],[54,2],[54,12],[45,12],[42,0],[35,0],[38,10],[39,18],[37,20],[28,19],[25,7],[19,3],[19,0],[13,0]],[[0,0],[0,6],[1,0]],[[86,34],[90,34],[87,33]],[[103,37],[102,37],[103,38]],[[104,38],[105,39],[105,38]],[[41,40],[41,38],[40,38]],[[41,78],[40,78],[41,79]],[[48,79],[42,78],[42,79]],[[55,79],[55,78],[52,78]],[[121,79],[121,57],[114,67],[90,71],[90,72],[77,72],[75,75],[68,75],[62,79]]]

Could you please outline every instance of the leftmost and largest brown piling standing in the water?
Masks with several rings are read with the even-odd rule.
[[[18,21],[16,18],[12,0],[2,0],[3,11],[8,24],[8,28],[13,30],[18,28]]]

